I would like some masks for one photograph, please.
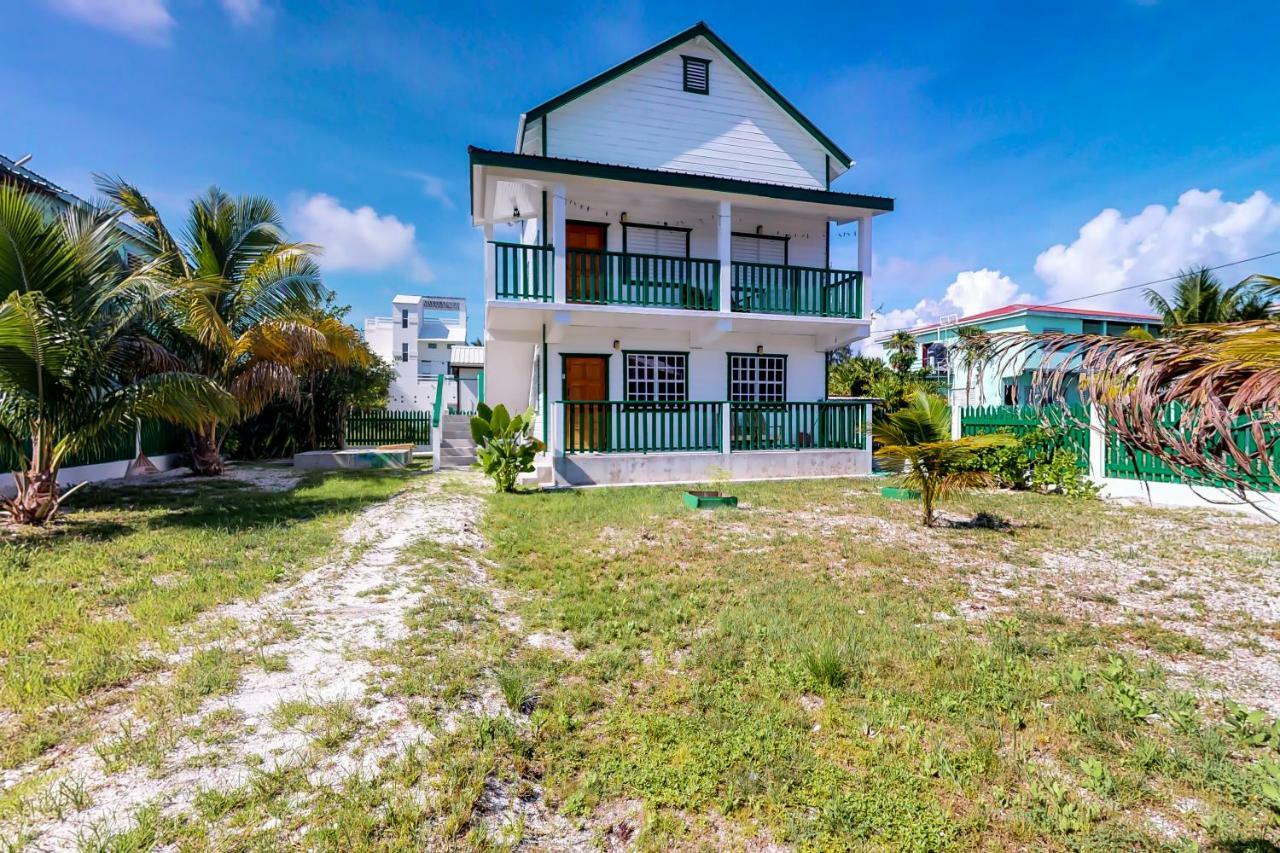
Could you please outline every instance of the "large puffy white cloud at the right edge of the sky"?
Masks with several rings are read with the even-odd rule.
[[[1181,269],[1213,266],[1280,247],[1280,204],[1261,190],[1244,201],[1224,201],[1220,190],[1188,190],[1172,209],[1149,205],[1125,218],[1108,207],[1084,223],[1070,246],[1059,243],[1036,259],[1048,301],[1167,278]],[[1253,270],[1242,268],[1240,278]],[[1230,279],[1231,273],[1224,273]],[[1146,309],[1142,291],[1083,300],[1078,305]]]

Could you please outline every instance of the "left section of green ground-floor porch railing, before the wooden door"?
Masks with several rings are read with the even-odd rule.
[[[564,452],[719,451],[723,406],[701,401],[564,401]]]

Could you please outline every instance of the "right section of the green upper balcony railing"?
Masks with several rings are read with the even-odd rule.
[[[863,315],[863,274],[817,266],[733,261],[732,309],[805,316]]]

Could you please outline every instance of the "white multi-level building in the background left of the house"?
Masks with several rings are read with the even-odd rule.
[[[467,302],[456,296],[397,296],[392,316],[365,320],[369,347],[396,368],[388,409],[429,411],[436,386],[448,411],[474,411],[484,347],[467,346]]]

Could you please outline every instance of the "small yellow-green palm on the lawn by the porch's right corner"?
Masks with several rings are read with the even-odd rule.
[[[874,434],[879,444],[876,459],[900,470],[902,485],[920,493],[923,521],[929,528],[937,521],[937,501],[991,484],[986,471],[966,470],[979,451],[1016,442],[1006,434],[951,438],[951,407],[923,391],[905,409],[876,424]]]

